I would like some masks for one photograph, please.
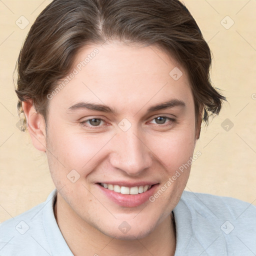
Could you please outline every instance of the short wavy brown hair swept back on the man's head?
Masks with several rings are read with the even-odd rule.
[[[32,99],[47,117],[46,95],[71,69],[75,54],[106,40],[157,45],[186,70],[196,119],[218,114],[225,100],[209,78],[210,49],[178,0],[53,0],[36,18],[17,60],[18,107]]]

